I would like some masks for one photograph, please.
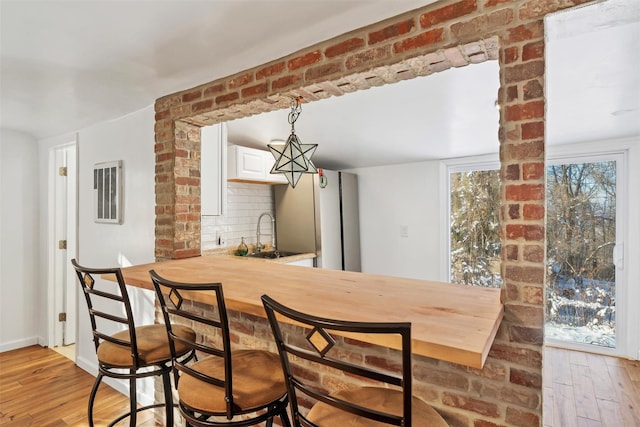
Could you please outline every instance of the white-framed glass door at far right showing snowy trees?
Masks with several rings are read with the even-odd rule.
[[[625,354],[623,167],[623,154],[547,163],[548,344]]]

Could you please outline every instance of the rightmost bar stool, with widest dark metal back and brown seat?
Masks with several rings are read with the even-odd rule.
[[[411,323],[365,323],[326,319],[295,311],[267,295],[262,303],[278,346],[282,369],[287,379],[294,426],[413,426],[444,427],[445,420],[435,409],[411,389]],[[279,320],[280,319],[280,320]],[[281,321],[295,323],[297,332],[287,329],[287,340]],[[353,363],[345,356],[345,340],[334,338],[333,331],[349,332],[349,338],[358,335],[388,335],[401,340],[401,367],[390,371],[374,369]],[[293,360],[292,360],[293,359]],[[305,361],[310,369],[330,368],[332,373],[342,371],[349,380],[361,379],[367,386],[353,386],[342,390],[327,390],[318,386],[302,369],[293,363]],[[399,371],[399,372],[394,372]],[[300,410],[299,401],[311,405],[308,413]]]

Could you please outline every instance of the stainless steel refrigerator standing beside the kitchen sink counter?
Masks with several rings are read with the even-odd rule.
[[[304,174],[295,188],[276,185],[276,245],[281,251],[315,252],[315,266],[360,271],[358,178],[322,170]]]

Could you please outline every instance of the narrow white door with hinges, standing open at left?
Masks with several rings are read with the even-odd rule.
[[[56,147],[53,153],[53,272],[54,346],[76,340],[77,284],[71,267],[76,252],[76,145]]]

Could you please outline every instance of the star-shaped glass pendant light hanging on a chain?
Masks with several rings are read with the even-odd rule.
[[[271,173],[282,173],[287,177],[291,187],[295,188],[303,173],[316,173],[317,169],[311,161],[311,156],[315,153],[318,144],[302,144],[298,136],[294,123],[298,119],[302,106],[301,97],[292,98],[291,112],[289,113],[289,123],[291,124],[291,135],[287,142],[283,144],[267,144],[273,158],[276,160]]]

